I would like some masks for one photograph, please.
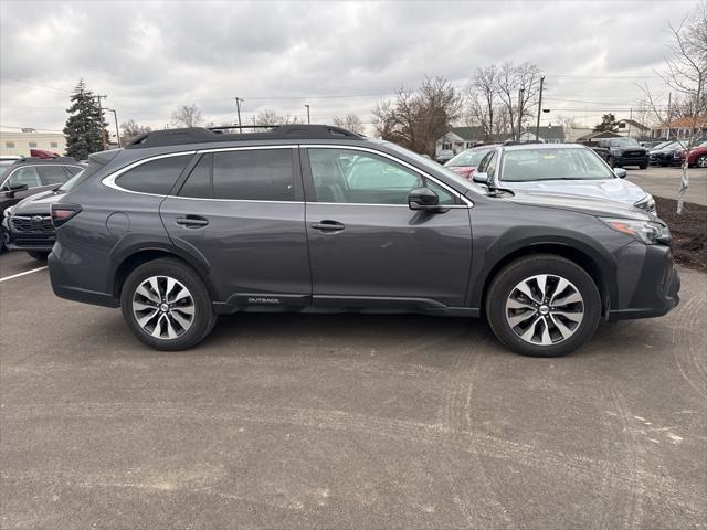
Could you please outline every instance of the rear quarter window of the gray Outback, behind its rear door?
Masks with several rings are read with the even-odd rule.
[[[191,157],[192,155],[179,155],[140,163],[118,177],[115,183],[129,191],[167,195]]]

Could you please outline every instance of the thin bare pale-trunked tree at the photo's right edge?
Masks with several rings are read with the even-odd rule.
[[[676,105],[665,108],[647,84],[642,85],[646,106],[659,124],[669,124],[674,116],[687,118],[689,135],[676,137],[686,153],[695,147],[698,131],[707,119],[707,3],[697,6],[678,26],[668,24],[671,43],[667,45],[665,70],[658,72],[667,87],[678,95]],[[676,110],[679,109],[679,114]],[[669,129],[668,129],[669,131]],[[677,213],[683,212],[685,194],[689,189],[688,157],[683,161],[683,178],[677,195]]]

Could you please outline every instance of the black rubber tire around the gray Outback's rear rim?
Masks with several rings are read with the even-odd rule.
[[[191,326],[177,338],[157,338],[151,336],[137,321],[133,310],[133,300],[137,288],[154,276],[165,276],[181,283],[193,300],[193,319]],[[133,271],[120,293],[123,318],[133,333],[147,346],[157,350],[178,351],[192,348],[201,342],[213,329],[217,315],[213,312],[209,290],[199,275],[187,264],[178,259],[160,258],[145,263]]]

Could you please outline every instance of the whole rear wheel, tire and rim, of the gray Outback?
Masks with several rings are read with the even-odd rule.
[[[135,336],[158,350],[201,342],[217,316],[199,276],[177,259],[156,259],[133,271],[120,294],[123,317]]]

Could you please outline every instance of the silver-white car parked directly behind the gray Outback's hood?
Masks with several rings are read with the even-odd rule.
[[[626,170],[610,168],[593,150],[577,144],[519,144],[488,152],[473,180],[489,188],[541,191],[604,199],[656,213],[655,200]]]

